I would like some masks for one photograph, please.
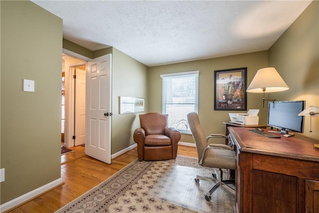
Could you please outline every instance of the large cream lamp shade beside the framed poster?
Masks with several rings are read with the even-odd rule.
[[[266,67],[257,71],[247,92],[280,92],[289,89],[284,79],[274,67]]]

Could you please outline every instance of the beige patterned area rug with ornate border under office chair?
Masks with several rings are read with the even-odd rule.
[[[219,187],[207,202],[212,184],[195,183],[196,174],[211,173],[194,158],[136,160],[56,213],[232,213],[233,192]]]

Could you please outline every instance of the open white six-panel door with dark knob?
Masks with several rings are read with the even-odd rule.
[[[112,54],[88,61],[85,153],[111,164]]]

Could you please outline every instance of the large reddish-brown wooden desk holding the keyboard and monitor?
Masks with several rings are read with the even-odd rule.
[[[236,213],[319,213],[318,140],[228,129],[236,151]]]

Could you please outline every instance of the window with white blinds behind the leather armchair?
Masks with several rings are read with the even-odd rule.
[[[187,114],[198,112],[198,71],[160,75],[162,113],[168,114],[168,127],[190,133]]]

